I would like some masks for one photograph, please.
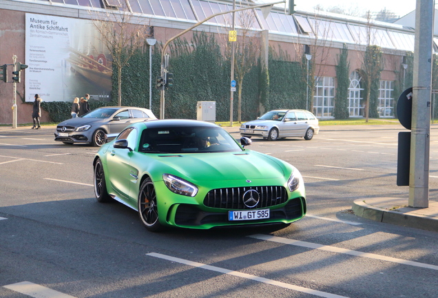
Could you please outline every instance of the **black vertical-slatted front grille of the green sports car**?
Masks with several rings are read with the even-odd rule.
[[[219,188],[210,190],[204,198],[204,205],[221,209],[251,209],[244,204],[243,196],[248,190],[255,190],[259,202],[252,208],[266,208],[284,203],[287,200],[286,188],[283,186],[254,186],[240,188]]]

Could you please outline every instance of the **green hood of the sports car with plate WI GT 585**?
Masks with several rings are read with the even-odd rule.
[[[195,181],[224,181],[238,179],[279,179],[286,174],[290,175],[291,169],[286,168],[286,163],[247,150],[245,152],[224,153],[199,153],[179,156],[158,157],[166,163],[168,168],[163,169],[169,174],[177,175],[183,179]],[[290,165],[289,165],[290,166]],[[287,173],[289,171],[289,173]]]

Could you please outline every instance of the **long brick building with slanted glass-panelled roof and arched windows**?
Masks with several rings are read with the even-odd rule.
[[[97,42],[90,21],[98,12],[120,10],[119,1],[125,0],[0,0],[0,65],[12,64],[13,56],[29,65],[23,71],[21,83],[17,83],[19,124],[30,123],[30,103],[35,93],[48,101],[73,101],[85,92],[95,100],[105,101],[110,97],[111,53],[105,52]],[[232,9],[231,1],[126,1],[129,13],[137,21],[153,26],[154,39],[161,43],[212,14]],[[265,18],[260,9],[248,11],[252,14],[249,28],[262,45],[262,61],[267,63],[269,48],[281,48],[291,61],[308,59],[311,65],[308,75],[314,80],[309,92],[313,104],[308,108],[320,119],[334,117],[336,66],[340,49],[344,47],[348,49],[350,66],[349,116],[364,117],[365,51],[367,46],[379,46],[384,64],[377,111],[379,117],[395,117],[399,96],[395,94],[395,82],[400,72],[406,71],[404,57],[414,50],[413,28],[324,12],[297,11],[289,15],[282,8],[273,8]],[[244,26],[238,21],[240,14],[243,12],[236,15],[238,32]],[[231,13],[227,13],[209,19],[194,30],[226,34],[230,24]],[[12,66],[8,69],[12,70]],[[0,81],[1,124],[12,123],[13,85]],[[47,112],[43,112],[41,120],[50,121]]]

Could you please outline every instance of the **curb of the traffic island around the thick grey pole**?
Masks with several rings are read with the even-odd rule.
[[[401,208],[407,209],[407,208]],[[414,210],[415,208],[408,208]],[[366,203],[363,199],[357,199],[353,202],[353,212],[359,217],[379,221],[386,224],[395,224],[397,226],[406,226],[410,228],[419,228],[421,230],[438,231],[437,217],[428,215],[408,214],[402,210],[388,210]]]

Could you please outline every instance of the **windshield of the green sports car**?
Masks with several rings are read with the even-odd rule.
[[[236,152],[242,148],[222,128],[171,127],[143,130],[140,152],[209,153]]]

